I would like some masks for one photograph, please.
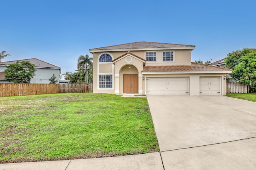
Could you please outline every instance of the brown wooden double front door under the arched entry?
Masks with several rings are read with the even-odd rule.
[[[124,93],[138,93],[138,74],[124,74]]]

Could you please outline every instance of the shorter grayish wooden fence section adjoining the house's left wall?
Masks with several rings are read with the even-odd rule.
[[[59,93],[88,93],[92,92],[92,83],[59,84]]]

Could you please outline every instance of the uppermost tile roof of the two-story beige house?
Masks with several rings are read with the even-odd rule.
[[[183,44],[170,44],[170,43],[154,43],[154,42],[134,42],[134,43],[126,43],[120,45],[112,45],[108,47],[100,47],[95,49],[89,49],[89,51],[93,50],[117,50],[117,49],[156,49],[156,48],[182,48],[182,47],[196,47],[195,45],[183,45]]]

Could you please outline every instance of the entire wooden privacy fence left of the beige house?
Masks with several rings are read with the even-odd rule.
[[[13,84],[0,83],[0,97],[25,96],[52,93],[92,92],[92,83],[88,84]]]

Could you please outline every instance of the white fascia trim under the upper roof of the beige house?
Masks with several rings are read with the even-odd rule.
[[[144,48],[144,49],[110,49],[110,50],[90,50],[89,52],[106,52],[106,51],[150,51],[150,50],[175,50],[175,49],[195,49],[195,47],[170,47],[170,48]]]

